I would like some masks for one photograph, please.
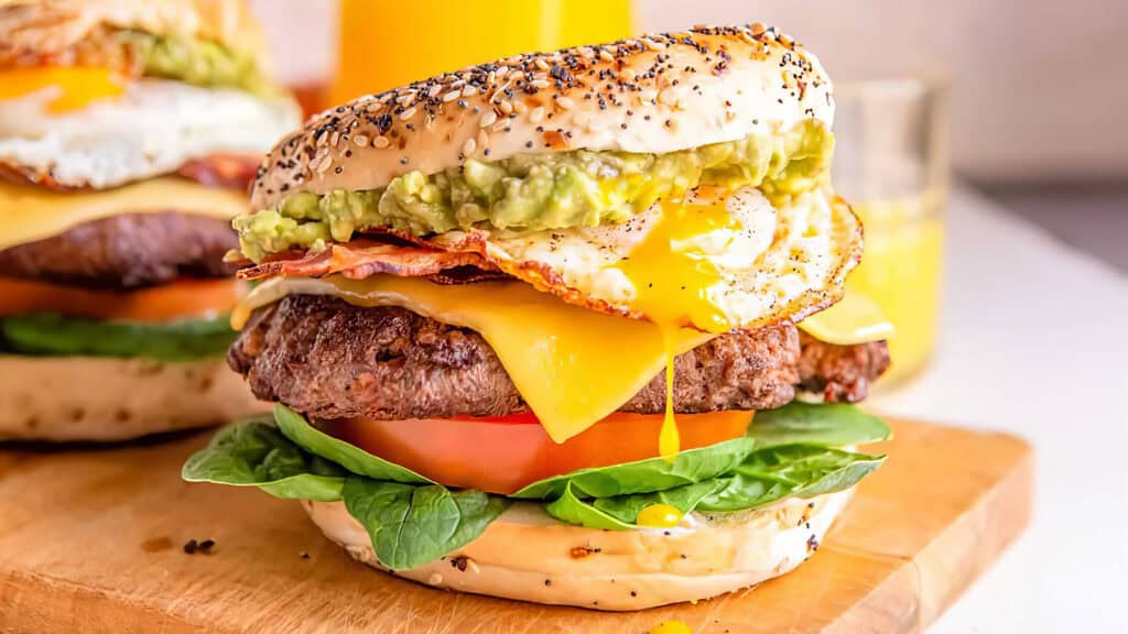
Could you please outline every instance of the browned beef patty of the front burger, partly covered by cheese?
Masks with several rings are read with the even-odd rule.
[[[888,364],[884,342],[832,346],[791,324],[738,331],[675,360],[679,413],[767,410],[796,386],[828,400],[860,400]],[[609,351],[609,354],[614,352]],[[261,399],[316,419],[502,416],[527,406],[490,345],[474,331],[397,307],[361,308],[290,296],[255,311],[228,352]],[[620,411],[661,413],[663,373]]]

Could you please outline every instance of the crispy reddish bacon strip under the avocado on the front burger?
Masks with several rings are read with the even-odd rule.
[[[291,254],[270,259],[239,271],[239,279],[333,273],[341,273],[353,280],[385,273],[403,278],[431,278],[440,283],[456,284],[504,276],[496,266],[476,253],[450,253],[411,245],[353,240],[346,245],[331,245],[320,253]]]

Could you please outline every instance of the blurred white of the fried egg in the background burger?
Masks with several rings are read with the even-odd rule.
[[[263,153],[300,123],[289,98],[140,79],[60,111],[59,86],[0,99],[0,164],[62,186],[113,187],[215,152]]]

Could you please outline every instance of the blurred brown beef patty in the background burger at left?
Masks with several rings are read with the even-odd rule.
[[[182,275],[233,274],[223,254],[239,240],[217,218],[176,212],[114,215],[0,250],[0,276],[129,289]]]

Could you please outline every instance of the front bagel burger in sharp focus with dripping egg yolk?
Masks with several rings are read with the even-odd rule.
[[[844,297],[831,86],[764,25],[518,55],[285,137],[236,218],[229,364],[273,420],[191,482],[297,499],[425,584],[606,610],[808,558],[888,428]]]

